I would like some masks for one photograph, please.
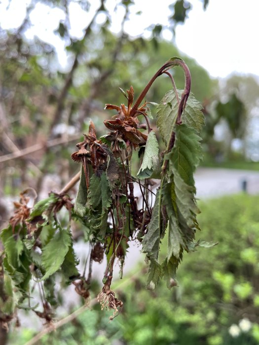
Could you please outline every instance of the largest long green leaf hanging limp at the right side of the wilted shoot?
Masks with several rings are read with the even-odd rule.
[[[169,160],[170,181],[162,188],[162,206],[169,218],[167,260],[171,260],[171,271],[176,270],[183,249],[192,250],[199,229],[193,173],[201,159],[201,147],[196,133],[185,124],[176,125],[174,147],[165,157]]]

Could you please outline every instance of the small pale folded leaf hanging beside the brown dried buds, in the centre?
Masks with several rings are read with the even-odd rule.
[[[138,178],[148,178],[152,175],[154,169],[157,170],[159,166],[158,152],[158,142],[155,133],[151,131],[148,134],[142,165],[137,173]]]

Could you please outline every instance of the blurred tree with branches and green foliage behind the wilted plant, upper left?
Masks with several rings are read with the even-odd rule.
[[[102,0],[83,37],[75,38],[70,33],[70,2],[73,1],[31,1],[18,28],[0,29],[0,190],[7,195],[16,194],[28,185],[39,193],[44,191],[48,173],[56,175],[59,188],[76,169],[67,158],[80,133],[87,129],[89,118],[95,120],[102,133],[104,104],[124,102],[118,87],[126,89],[133,85],[138,94],[161,61],[182,56],[172,43],[162,40],[160,23],[157,24],[160,29],[156,24],[150,28],[148,40],[142,36],[132,38],[125,32],[131,0],[117,4],[124,9],[118,35],[110,31],[112,13]],[[55,33],[66,45],[67,72],[61,72],[57,66],[55,47],[37,36],[33,40],[26,38],[38,3],[49,6],[49,11],[58,8],[64,12],[65,19],[60,21]],[[89,11],[93,5],[83,0],[77,3],[81,11]],[[177,18],[181,7],[187,8],[189,4],[177,1],[170,7]],[[105,24],[96,22],[100,13],[105,15]],[[187,12],[181,21],[186,15]],[[174,27],[179,22],[177,18]],[[194,60],[184,58],[190,67],[196,97],[210,98],[214,83],[208,73]],[[182,72],[176,70],[174,77],[181,88]],[[170,85],[165,80],[161,77],[148,97],[159,102]]]

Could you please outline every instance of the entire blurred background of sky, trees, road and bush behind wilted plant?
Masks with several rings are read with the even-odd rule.
[[[258,13],[257,0],[0,1],[1,227],[22,190],[35,188],[40,200],[77,173],[75,144],[89,119],[99,136],[106,133],[112,114],[104,106],[124,103],[119,87],[133,85],[138,96],[179,56],[206,122],[195,175],[197,238],[219,242],[185,255],[172,290],[163,282],[146,290],[144,258],[130,248],[131,275],[114,284],[124,301],[118,317],[108,323],[97,305],[28,344],[259,344]],[[183,89],[182,71],[172,73]],[[159,103],[170,88],[160,76],[147,101]],[[87,244],[76,227],[73,234],[81,257]],[[72,290],[58,297],[58,319],[82,303],[73,303]],[[10,344],[26,344],[42,329],[21,315]]]

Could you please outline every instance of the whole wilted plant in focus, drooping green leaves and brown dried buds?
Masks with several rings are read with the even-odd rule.
[[[177,94],[174,90],[167,92],[158,105],[150,102],[141,105],[153,81],[178,65],[185,70],[185,90],[178,90]],[[104,255],[107,268],[98,299],[102,308],[112,309],[115,314],[122,307],[122,301],[111,290],[113,266],[117,260],[122,277],[129,241],[141,242],[147,254],[150,288],[162,277],[168,287],[175,285],[172,279],[183,251],[194,250],[199,245],[194,242],[199,230],[196,220],[199,210],[193,173],[201,159],[200,132],[204,120],[201,105],[193,95],[189,96],[188,73],[185,63],[173,58],[153,76],[135,104],[132,86],[127,92],[120,90],[127,99],[126,105],[106,104],[106,109],[117,112],[112,119],[104,121],[111,132],[98,139],[91,122],[88,134],[84,134],[83,141],[76,145],[78,150],[72,154],[72,159],[81,164],[74,203],[66,193],[50,193],[31,210],[26,193],[21,195],[9,226],[0,235],[6,275],[0,279],[8,294],[9,314],[14,312],[14,303],[9,301],[14,297],[8,292],[11,284],[17,290],[17,305],[33,309],[50,322],[52,308],[57,304],[56,277],[61,276],[65,285],[73,283],[75,291],[87,298],[92,262],[101,262]],[[159,133],[150,128],[148,104],[156,107],[153,115],[156,115]],[[159,152],[158,136],[167,146],[165,152]],[[132,173],[134,151],[138,151],[140,158],[136,175]],[[65,217],[61,209],[67,209]],[[73,249],[72,220],[79,222],[91,246],[88,271],[83,273],[78,272]],[[159,247],[165,234],[167,256],[160,258]],[[26,304],[30,301],[32,278],[44,291],[41,294],[43,311],[30,302]]]

